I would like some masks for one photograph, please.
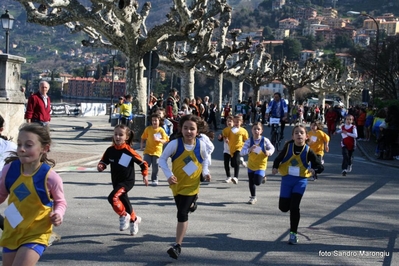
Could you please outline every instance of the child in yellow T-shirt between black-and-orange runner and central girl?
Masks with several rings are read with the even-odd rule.
[[[144,150],[144,160],[147,162],[148,167],[152,165],[151,172],[151,185],[158,186],[158,161],[162,154],[163,145],[169,141],[168,135],[165,130],[159,126],[161,116],[159,114],[151,115],[151,126],[144,129],[141,135],[140,149]],[[145,149],[144,147],[145,142]]]

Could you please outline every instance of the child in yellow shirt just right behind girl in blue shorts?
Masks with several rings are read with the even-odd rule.
[[[321,164],[324,164],[324,151],[329,152],[330,137],[323,131],[323,124],[321,122],[313,121],[310,123],[310,131],[308,132],[308,145],[316,153]],[[309,180],[316,180],[317,174]]]

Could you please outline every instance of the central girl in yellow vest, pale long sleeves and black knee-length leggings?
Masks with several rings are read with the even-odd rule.
[[[169,142],[159,158],[159,167],[168,178],[177,207],[176,243],[168,250],[170,257],[177,259],[181,253],[181,245],[188,228],[188,213],[194,211],[195,201],[200,187],[201,173],[207,181],[211,175],[208,170],[208,153],[206,145],[197,138],[201,118],[185,115],[179,121],[181,132],[177,138]],[[172,159],[172,171],[168,166],[168,158]]]

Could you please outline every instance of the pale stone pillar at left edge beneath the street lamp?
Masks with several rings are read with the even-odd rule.
[[[24,123],[25,94],[21,91],[23,57],[0,54],[0,114],[5,120],[2,135],[17,140],[18,128]]]

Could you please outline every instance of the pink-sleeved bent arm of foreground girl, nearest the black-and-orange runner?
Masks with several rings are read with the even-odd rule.
[[[54,209],[50,213],[51,223],[58,226],[62,223],[67,207],[64,196],[64,187],[61,177],[53,170],[47,178],[47,187],[51,197],[54,200]]]

